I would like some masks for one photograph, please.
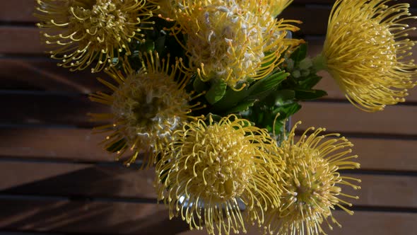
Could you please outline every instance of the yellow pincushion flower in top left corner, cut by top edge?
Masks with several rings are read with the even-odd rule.
[[[128,43],[141,40],[143,25],[153,22],[151,8],[145,0],[37,0],[37,26],[53,59],[71,70],[93,72],[112,64]],[[148,27],[149,28],[149,27]]]

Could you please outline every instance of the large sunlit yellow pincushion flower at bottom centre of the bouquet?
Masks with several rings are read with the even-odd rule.
[[[246,232],[240,202],[257,222],[279,205],[279,194],[270,193],[279,180],[270,154],[277,147],[266,130],[230,115],[189,122],[175,134],[156,165],[158,198],[171,218],[180,213],[190,229],[230,234]]]

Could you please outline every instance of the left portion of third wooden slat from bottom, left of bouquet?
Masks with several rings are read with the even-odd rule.
[[[0,136],[3,157],[114,161],[99,145],[105,135],[88,129],[1,128]]]

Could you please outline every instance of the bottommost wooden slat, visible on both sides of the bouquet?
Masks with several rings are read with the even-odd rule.
[[[179,218],[168,219],[164,205],[1,200],[0,207],[0,229],[3,230],[100,234],[177,234],[188,230],[187,224]],[[334,216],[343,228],[335,227],[329,234],[411,235],[417,230],[417,214],[358,211],[350,216],[335,211]],[[251,229],[250,234],[260,233]]]

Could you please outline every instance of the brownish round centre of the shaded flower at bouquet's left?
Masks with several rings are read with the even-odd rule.
[[[187,119],[187,93],[163,72],[131,74],[113,98],[112,113],[131,142],[138,136],[163,139]]]

